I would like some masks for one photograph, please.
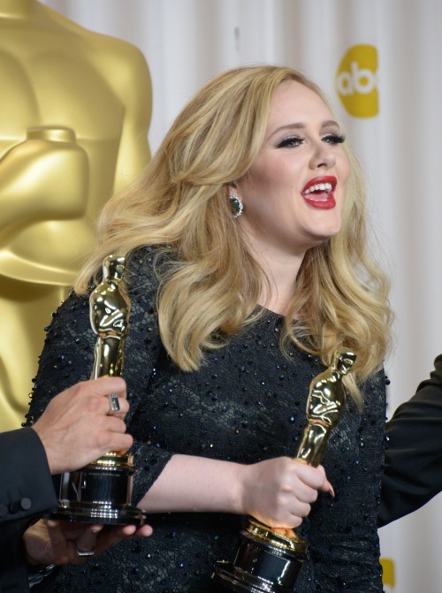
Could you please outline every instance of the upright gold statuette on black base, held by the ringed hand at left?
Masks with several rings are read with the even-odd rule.
[[[123,348],[129,331],[131,303],[123,281],[126,258],[107,256],[103,281],[89,298],[90,323],[97,338],[93,378],[122,376]],[[110,394],[111,411],[118,397]],[[143,525],[146,515],[131,505],[135,468],[133,456],[109,452],[98,460],[62,476],[60,499],[54,519],[112,525]]]

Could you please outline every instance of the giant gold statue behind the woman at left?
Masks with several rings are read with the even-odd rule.
[[[36,0],[0,0],[0,430],[27,411],[44,326],[95,218],[149,162],[141,51]]]

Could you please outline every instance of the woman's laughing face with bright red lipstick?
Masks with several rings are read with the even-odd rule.
[[[294,80],[278,87],[263,147],[235,183],[238,222],[258,252],[303,255],[339,231],[349,173],[343,140],[315,92]]]

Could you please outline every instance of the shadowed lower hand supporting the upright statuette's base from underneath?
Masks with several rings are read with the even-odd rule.
[[[41,519],[27,529],[23,540],[30,564],[62,565],[82,564],[88,559],[88,556],[79,556],[78,551],[94,551],[96,556],[121,540],[151,534],[149,525],[136,528],[134,525],[103,526]]]

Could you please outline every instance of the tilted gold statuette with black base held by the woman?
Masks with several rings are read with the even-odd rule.
[[[331,366],[310,383],[307,425],[295,460],[317,467],[324,458],[331,430],[337,426],[346,402],[342,377],[354,364],[353,352],[335,352]],[[249,518],[240,533],[240,546],[233,563],[217,562],[212,575],[217,593],[292,593],[307,557],[309,543],[292,528],[270,528]]]

